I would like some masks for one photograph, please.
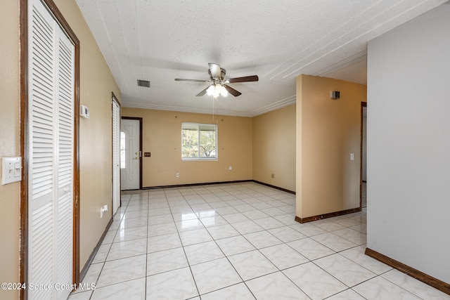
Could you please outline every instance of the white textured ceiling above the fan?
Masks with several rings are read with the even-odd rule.
[[[122,106],[212,113],[208,63],[241,96],[214,113],[253,117],[295,103],[295,77],[366,84],[367,41],[446,0],[76,0],[122,92]],[[149,80],[150,89],[137,86]]]

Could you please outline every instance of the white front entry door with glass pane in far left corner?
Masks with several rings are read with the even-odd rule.
[[[139,119],[120,122],[120,183],[122,190],[138,190],[140,178]]]

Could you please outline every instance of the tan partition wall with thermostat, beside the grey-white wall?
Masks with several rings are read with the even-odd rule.
[[[330,91],[340,91],[340,99]],[[362,84],[297,77],[298,217],[359,207],[361,101]]]

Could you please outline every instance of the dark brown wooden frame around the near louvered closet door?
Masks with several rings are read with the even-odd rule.
[[[79,39],[52,0],[41,0],[56,22],[63,28],[75,46],[74,74],[74,149],[73,149],[73,261],[72,282],[79,284]],[[28,0],[20,0],[20,156],[22,157],[22,181],[20,182],[20,282],[28,277]],[[20,299],[27,299],[27,289],[20,289]]]

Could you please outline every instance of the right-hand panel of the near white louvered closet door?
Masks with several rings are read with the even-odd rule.
[[[58,160],[55,207],[55,281],[72,284],[73,267],[73,135],[74,135],[74,53],[72,45],[63,30],[57,26],[56,34],[56,84],[58,94],[56,115],[58,120]],[[56,299],[66,299],[70,293],[65,289],[55,290]]]

